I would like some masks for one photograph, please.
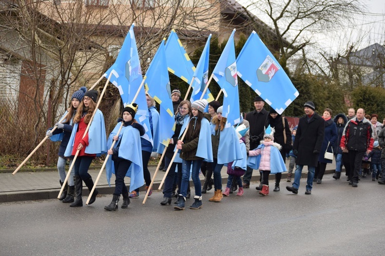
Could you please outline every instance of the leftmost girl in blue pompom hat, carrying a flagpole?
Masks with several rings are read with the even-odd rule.
[[[67,109],[67,111],[64,113],[64,119],[62,123],[56,123],[55,126],[57,128],[51,132],[52,128],[49,128],[46,135],[49,136],[51,141],[61,141],[59,146],[59,152],[57,152],[57,155],[59,157],[57,158],[57,172],[59,172],[59,182],[60,185],[63,186],[64,180],[66,179],[66,162],[67,159],[69,159],[69,165],[71,166],[73,156],[64,157],[64,152],[66,151],[68,141],[71,136],[72,132],[72,123],[73,123],[73,117],[75,116],[76,109],[78,109],[80,103],[83,101],[84,93],[87,91],[86,87],[81,87],[78,91],[75,91],[72,94],[70,107]],[[61,119],[62,120],[62,119]],[[74,175],[74,169],[72,168],[71,173],[69,175],[68,182],[63,190],[62,195],[60,196],[59,200],[63,203],[72,203],[74,201],[73,199],[73,192],[75,189],[75,185],[73,182],[73,175]]]

